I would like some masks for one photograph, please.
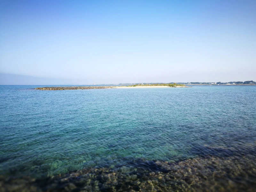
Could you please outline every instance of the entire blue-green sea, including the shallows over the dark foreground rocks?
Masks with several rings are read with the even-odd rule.
[[[26,186],[44,191],[38,183],[47,179],[47,189],[53,190],[51,183],[58,180],[58,189],[68,191],[72,174],[77,174],[72,177],[77,191],[148,191],[152,185],[156,191],[182,185],[204,191],[213,186],[213,173],[223,176],[212,181],[217,191],[256,187],[256,86],[34,89],[45,86],[0,86],[0,180],[5,189],[29,178]],[[173,167],[189,167],[186,172],[204,185],[192,185],[185,173],[173,176],[178,174]],[[104,180],[104,172],[123,179]],[[86,174],[96,176],[81,184]],[[212,180],[203,179],[209,175]],[[60,184],[63,178],[68,180]]]

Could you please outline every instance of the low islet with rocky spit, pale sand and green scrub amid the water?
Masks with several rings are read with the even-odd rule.
[[[160,87],[188,87],[184,84],[134,84],[128,86],[68,86],[68,87],[37,87],[39,90],[76,90],[76,89],[115,89],[115,88],[160,88]]]

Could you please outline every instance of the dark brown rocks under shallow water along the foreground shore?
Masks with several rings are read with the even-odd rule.
[[[123,165],[41,180],[0,177],[0,191],[256,191],[256,162],[252,157],[208,156],[149,164],[160,171]]]

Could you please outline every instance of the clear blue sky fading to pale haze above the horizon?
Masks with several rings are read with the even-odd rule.
[[[0,1],[0,73],[0,84],[255,81],[256,1]]]

